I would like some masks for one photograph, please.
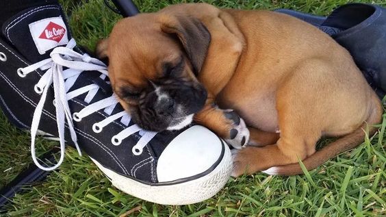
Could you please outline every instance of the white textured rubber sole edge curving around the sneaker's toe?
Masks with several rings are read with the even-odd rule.
[[[112,185],[123,192],[145,201],[164,205],[188,205],[205,201],[214,196],[227,183],[233,168],[231,150],[224,145],[225,152],[218,166],[209,174],[186,181],[165,186],[149,186],[123,175],[119,175],[103,167],[96,160],[92,161],[112,181]]]

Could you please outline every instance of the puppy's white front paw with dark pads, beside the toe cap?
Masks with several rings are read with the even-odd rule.
[[[225,141],[233,148],[241,149],[249,141],[249,130],[244,120],[236,112],[229,110],[224,112],[224,116],[233,121],[229,131],[229,138],[225,139]]]

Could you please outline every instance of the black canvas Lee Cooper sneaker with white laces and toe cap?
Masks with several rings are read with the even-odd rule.
[[[64,144],[71,144],[116,188],[171,205],[208,199],[227,182],[231,152],[205,127],[155,133],[131,122],[106,66],[76,46],[59,5],[29,8],[0,25],[0,105],[14,125],[31,131],[40,168],[57,168]],[[36,159],[36,134],[59,138],[55,166]]]

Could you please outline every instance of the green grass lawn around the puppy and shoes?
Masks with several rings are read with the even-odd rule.
[[[103,0],[62,0],[70,14],[70,26],[77,42],[94,49],[107,36],[120,16]],[[153,12],[177,0],[136,1],[142,12]],[[324,0],[221,0],[214,5],[240,9],[291,8],[326,15],[348,1]],[[385,0],[356,1],[378,3]],[[3,9],[4,10],[4,9]],[[129,29],[128,29],[129,30]],[[363,38],[365,40],[365,38]],[[367,138],[357,149],[335,157],[307,175],[272,177],[257,173],[230,179],[216,196],[185,206],[157,205],[129,196],[112,187],[110,181],[88,157],[68,148],[66,159],[36,186],[26,186],[6,209],[6,216],[386,216],[386,152],[384,114],[381,133]],[[322,140],[322,143],[328,142]],[[27,164],[30,137],[18,131],[0,113],[0,188]],[[39,152],[55,142],[38,139]],[[138,211],[129,214],[131,209]],[[1,214],[0,214],[1,215]]]

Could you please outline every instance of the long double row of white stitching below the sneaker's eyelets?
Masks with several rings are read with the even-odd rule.
[[[34,106],[34,107],[36,107],[36,103],[34,103],[34,101],[31,101],[31,99],[29,99],[28,97],[25,97],[25,95],[23,94],[23,92],[21,92],[20,90],[18,90],[18,88],[16,88],[16,86],[12,83],[12,81],[9,81],[8,79],[7,79],[7,77],[5,77],[5,75],[3,74],[3,73],[1,73],[1,71],[0,71],[0,76],[1,77],[3,77],[3,79],[5,80],[5,82],[7,82],[10,86],[11,86],[11,88],[12,89],[14,89],[25,101],[27,101],[29,104],[31,104],[32,106]],[[46,114],[47,116],[49,116],[51,119],[53,119],[53,120],[55,120],[55,118],[49,113],[49,112],[47,112],[46,110],[43,110],[42,111],[43,112],[43,114]],[[66,124],[66,127],[68,128],[68,125]],[[75,130],[77,130],[77,131],[79,131],[79,133],[81,134],[81,136],[83,136],[84,138],[88,138],[88,136],[90,136],[90,135],[88,135],[88,133],[85,133],[85,132],[83,132],[83,131],[81,131],[80,129],[77,129],[76,127],[75,127]],[[88,135],[88,136],[86,136],[86,135]],[[92,137],[92,136],[91,136]],[[93,138],[93,137],[92,137]],[[95,140],[97,140],[96,138],[94,138]],[[122,164],[122,162],[120,162],[120,160],[118,159],[118,157],[114,154],[114,152],[112,152],[109,148],[107,148],[103,143],[101,143],[99,140],[97,140],[98,142],[100,142],[101,143],[101,145],[100,144],[98,144],[97,142],[95,142],[94,140],[91,140],[90,138],[88,138],[88,140],[90,140],[90,141],[92,141],[92,142],[94,142],[94,144],[97,144],[99,147],[101,147],[102,149],[103,149],[103,151],[105,151],[107,154],[109,154],[113,159],[114,159],[114,161],[116,162],[116,164],[118,164],[118,166],[123,170],[123,173],[125,173],[125,175],[129,175],[128,174],[128,172],[127,172],[127,169],[126,169],[126,167],[125,167],[125,165],[123,165]],[[103,147],[104,146],[104,147]],[[108,151],[106,151],[106,149],[108,150]],[[109,152],[110,151],[110,152]],[[114,157],[114,156],[115,157]],[[118,161],[117,161],[118,160]]]

